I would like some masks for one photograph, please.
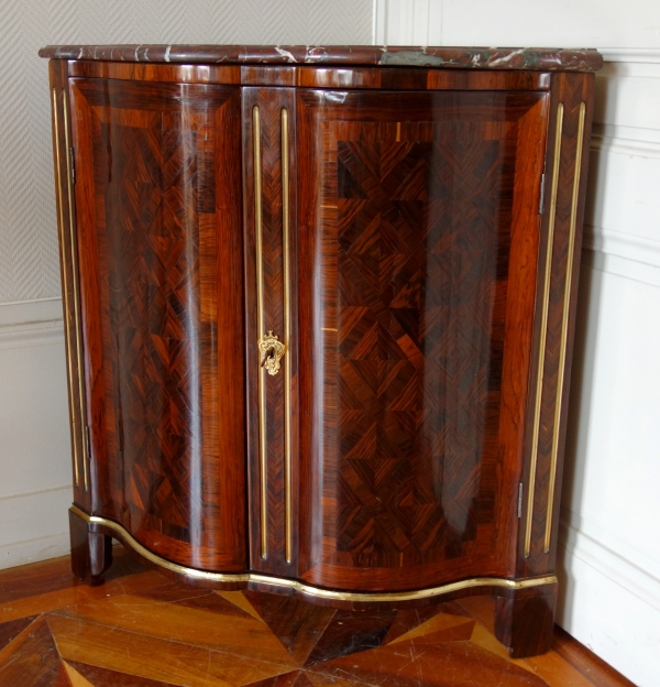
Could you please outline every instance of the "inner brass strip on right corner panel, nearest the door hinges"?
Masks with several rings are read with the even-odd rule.
[[[559,168],[561,162],[561,133],[563,127],[563,103],[557,106],[557,127],[554,131],[554,165],[552,168],[552,186],[550,190],[550,215],[548,217],[548,246],[546,248],[546,265],[543,273],[543,295],[541,301],[541,330],[539,339],[539,362],[537,370],[536,402],[534,408],[534,429],[531,435],[531,461],[529,466],[529,484],[527,487],[527,523],[525,528],[525,557],[531,550],[531,525],[534,520],[534,492],[536,487],[537,460],[539,454],[539,435],[541,427],[541,400],[543,396],[543,368],[546,363],[546,341],[548,337],[548,309],[550,306],[550,272],[552,268],[552,248],[554,243],[554,222],[557,219],[557,190],[559,187]]]

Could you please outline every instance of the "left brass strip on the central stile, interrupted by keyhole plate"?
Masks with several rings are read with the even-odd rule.
[[[265,336],[264,325],[264,248],[262,210],[261,118],[258,106],[252,108],[252,153],[254,172],[254,243],[256,249],[256,337],[257,346]],[[261,555],[268,557],[268,454],[266,436],[266,371],[258,368],[258,470]]]

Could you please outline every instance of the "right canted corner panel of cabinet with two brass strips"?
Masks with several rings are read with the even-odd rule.
[[[518,547],[524,576],[556,565],[593,88],[593,74],[552,75]]]

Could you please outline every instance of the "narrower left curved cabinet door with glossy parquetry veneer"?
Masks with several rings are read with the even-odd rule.
[[[91,511],[245,568],[240,91],[69,85]]]

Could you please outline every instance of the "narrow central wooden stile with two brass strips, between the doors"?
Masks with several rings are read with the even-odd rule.
[[[293,88],[243,88],[250,561],[287,577],[297,559],[294,105]],[[271,371],[258,349],[268,332],[285,347]]]

